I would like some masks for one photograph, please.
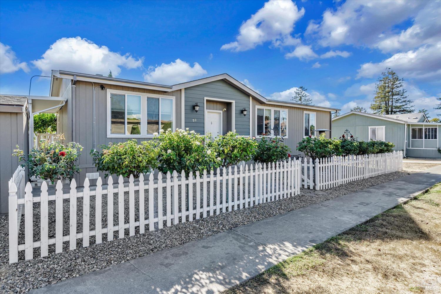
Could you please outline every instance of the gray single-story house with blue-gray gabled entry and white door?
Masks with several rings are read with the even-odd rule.
[[[297,143],[306,135],[314,135],[314,129],[330,130],[331,113],[338,110],[269,100],[228,74],[159,85],[52,71],[49,96],[30,97],[30,112],[35,113],[35,107],[41,110],[45,104],[48,112],[58,115],[58,133],[84,147],[78,160],[80,182],[86,174],[96,172],[90,149],[131,138],[149,140],[153,133],[167,128],[189,128],[201,134],[209,131],[213,135],[236,130],[241,136],[257,138],[272,136],[276,128],[286,136],[285,144],[292,154],[298,154]],[[326,135],[330,137],[329,132]]]

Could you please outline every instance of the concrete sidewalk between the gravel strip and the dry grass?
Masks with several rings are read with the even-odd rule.
[[[440,181],[432,167],[30,292],[218,293]]]

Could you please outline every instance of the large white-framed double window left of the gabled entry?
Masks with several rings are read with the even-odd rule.
[[[107,90],[107,137],[152,138],[175,129],[175,97]]]

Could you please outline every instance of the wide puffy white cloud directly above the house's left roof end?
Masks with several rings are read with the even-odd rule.
[[[50,74],[52,69],[104,75],[111,70],[116,77],[121,73],[121,67],[142,67],[143,61],[142,58],[135,59],[129,53],[121,55],[112,52],[106,46],[81,37],[57,40],[41,57],[32,63],[44,75]]]

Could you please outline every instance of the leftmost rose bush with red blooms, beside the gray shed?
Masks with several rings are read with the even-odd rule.
[[[82,146],[75,142],[64,145],[63,134],[58,138],[59,141],[55,142],[41,140],[40,148],[32,149],[27,159],[18,145],[13,155],[19,156],[19,160],[24,162],[22,166],[29,169],[30,176],[38,176],[52,183],[56,180],[72,179],[80,171],[75,161],[81,154],[78,151],[82,150]]]

